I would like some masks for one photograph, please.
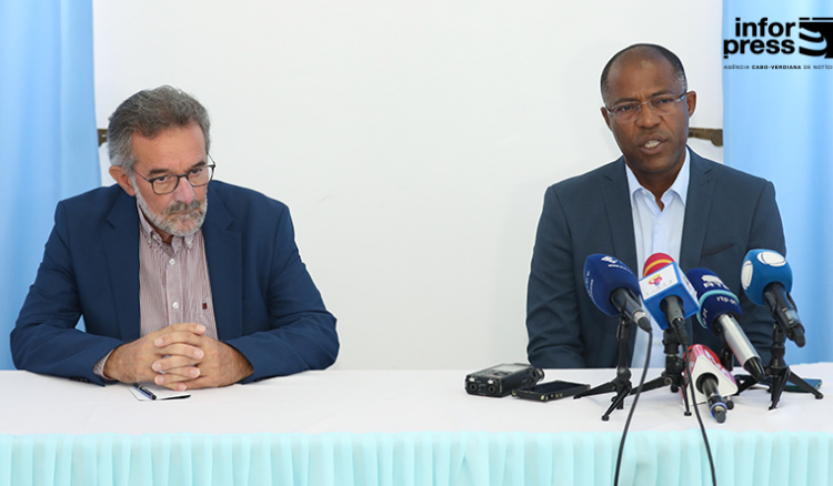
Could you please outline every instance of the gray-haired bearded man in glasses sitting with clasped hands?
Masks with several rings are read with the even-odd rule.
[[[301,262],[289,210],[212,181],[209,129],[205,109],[171,87],[113,112],[118,184],[58,204],[11,333],[18,368],[184,391],[335,361],[335,318]],[[81,316],[87,332],[76,328]]]

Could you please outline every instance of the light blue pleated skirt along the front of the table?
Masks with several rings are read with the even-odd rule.
[[[720,485],[833,484],[833,434],[709,437]],[[619,441],[613,433],[0,435],[0,485],[612,485]],[[700,432],[630,433],[620,484],[710,485]]]

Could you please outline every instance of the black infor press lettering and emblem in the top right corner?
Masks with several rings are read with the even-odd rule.
[[[797,22],[734,19],[734,37],[723,39],[723,59],[733,54],[803,54],[833,58],[833,18],[802,17]],[[797,45],[797,50],[796,50]]]

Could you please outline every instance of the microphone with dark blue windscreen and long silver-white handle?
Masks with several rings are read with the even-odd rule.
[[[761,364],[761,355],[737,324],[737,320],[743,315],[737,297],[711,270],[692,269],[688,276],[700,300],[697,313],[700,325],[715,336],[722,337],[732,350],[737,363],[756,381],[761,382],[766,378],[763,364]]]

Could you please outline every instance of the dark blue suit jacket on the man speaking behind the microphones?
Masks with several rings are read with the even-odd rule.
[[[765,365],[773,320],[741,287],[743,257],[753,249],[786,253],[772,183],[692,151],[678,264],[683,272],[711,270],[740,297],[741,326]],[[603,314],[584,288],[584,261],[594,253],[615,256],[642,274],[636,266],[624,158],[546,191],[526,294],[531,364],[546,368],[616,366],[619,318]],[[633,350],[636,326],[631,327]],[[691,343],[705,344],[715,352],[724,347],[695,318],[686,320],[686,328]]]

